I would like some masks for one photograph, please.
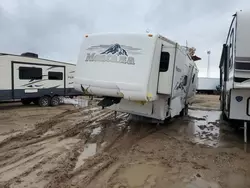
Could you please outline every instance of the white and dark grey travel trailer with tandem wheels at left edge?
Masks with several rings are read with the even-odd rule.
[[[0,101],[21,99],[40,106],[56,106],[59,96],[77,96],[75,65],[38,58],[34,53],[0,53]]]

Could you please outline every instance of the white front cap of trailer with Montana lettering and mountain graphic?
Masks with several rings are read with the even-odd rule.
[[[75,88],[80,91],[82,86],[94,95],[147,100],[156,39],[147,34],[88,35],[77,62]]]

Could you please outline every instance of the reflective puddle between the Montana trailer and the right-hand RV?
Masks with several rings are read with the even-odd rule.
[[[220,121],[221,111],[189,110],[189,117],[191,120],[186,133],[192,142],[209,147],[236,147],[250,152],[250,144],[244,144],[243,131],[236,132]]]

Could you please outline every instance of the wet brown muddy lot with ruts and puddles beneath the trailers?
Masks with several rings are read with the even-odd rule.
[[[160,127],[92,102],[40,108],[0,104],[0,187],[247,188],[242,133],[220,122],[218,96]]]

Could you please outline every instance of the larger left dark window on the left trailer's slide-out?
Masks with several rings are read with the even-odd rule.
[[[42,68],[19,67],[20,80],[40,80],[42,76]]]

